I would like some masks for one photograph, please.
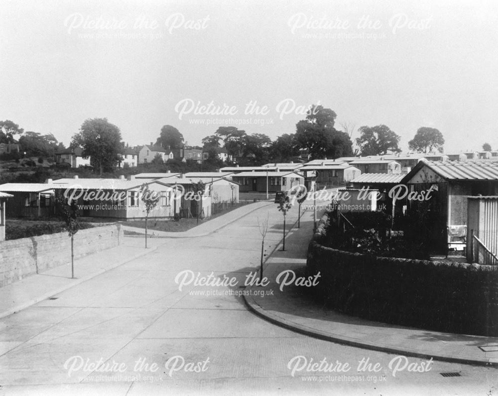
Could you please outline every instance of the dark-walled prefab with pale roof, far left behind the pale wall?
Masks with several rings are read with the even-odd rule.
[[[49,183],[5,183],[0,192],[12,196],[5,205],[6,217],[49,217],[54,214],[54,190]]]

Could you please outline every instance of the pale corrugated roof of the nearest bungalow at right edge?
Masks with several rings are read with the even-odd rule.
[[[424,161],[423,163],[449,180],[498,180],[498,162]]]

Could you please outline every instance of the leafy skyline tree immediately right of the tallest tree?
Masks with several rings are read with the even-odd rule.
[[[383,155],[387,151],[399,152],[399,136],[385,125],[361,127],[356,143],[362,155]]]

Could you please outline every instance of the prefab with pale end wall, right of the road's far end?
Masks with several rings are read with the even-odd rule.
[[[308,181],[315,181],[317,189],[328,188],[332,186],[344,185],[344,183],[360,176],[362,171],[347,162],[342,164],[330,165],[308,165],[305,164],[299,168],[300,172],[304,172]],[[307,188],[312,188],[312,183],[309,183]]]

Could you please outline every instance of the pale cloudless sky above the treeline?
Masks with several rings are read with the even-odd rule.
[[[294,133],[420,127],[445,151],[498,148],[497,1],[0,0],[0,120],[66,145],[107,118],[130,145],[163,125]]]

